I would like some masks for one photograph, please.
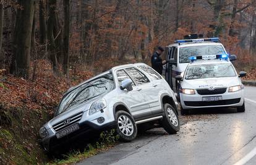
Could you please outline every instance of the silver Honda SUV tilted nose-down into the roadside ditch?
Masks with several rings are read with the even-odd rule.
[[[45,150],[92,130],[114,127],[123,141],[137,125],[158,121],[168,133],[179,131],[177,100],[168,83],[146,64],[128,64],[70,88],[51,121],[40,129]]]

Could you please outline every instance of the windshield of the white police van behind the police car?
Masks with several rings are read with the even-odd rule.
[[[179,49],[179,62],[189,62],[190,56],[202,56],[211,54],[225,54],[224,48],[221,45],[198,45],[188,46]]]

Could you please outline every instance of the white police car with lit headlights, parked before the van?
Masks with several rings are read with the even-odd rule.
[[[236,58],[231,56],[232,59]],[[236,107],[244,112],[244,86],[237,75],[228,54],[192,56],[183,75],[177,75],[180,82],[179,96],[181,114],[188,109]]]

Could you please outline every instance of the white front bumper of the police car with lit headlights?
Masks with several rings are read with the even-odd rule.
[[[237,107],[244,104],[244,90],[228,92],[222,95],[186,95],[180,93],[183,109],[213,108],[213,107]],[[218,101],[203,101],[203,97],[222,96]]]

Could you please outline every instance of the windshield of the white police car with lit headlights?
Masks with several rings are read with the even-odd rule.
[[[236,72],[231,64],[204,64],[188,66],[186,80],[199,78],[235,77]]]

